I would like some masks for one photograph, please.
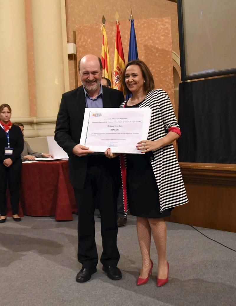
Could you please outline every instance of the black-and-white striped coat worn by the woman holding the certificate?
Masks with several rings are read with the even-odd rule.
[[[124,107],[124,104],[125,102],[120,107]],[[152,109],[148,140],[158,140],[167,135],[170,127],[179,127],[170,98],[162,89],[149,92],[139,107]],[[159,188],[160,211],[187,203],[188,198],[173,145],[155,150],[153,154],[155,158],[151,160],[151,164]],[[124,159],[126,163],[125,154]],[[124,182],[123,179],[122,181]]]

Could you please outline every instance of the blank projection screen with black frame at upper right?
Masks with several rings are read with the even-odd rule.
[[[178,0],[181,79],[236,73],[236,0]]]

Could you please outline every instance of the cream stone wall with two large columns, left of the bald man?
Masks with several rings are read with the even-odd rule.
[[[54,135],[69,90],[65,0],[0,0],[0,96],[26,137]]]

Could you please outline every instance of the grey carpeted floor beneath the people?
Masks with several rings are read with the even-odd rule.
[[[100,220],[96,242],[102,252]],[[169,283],[157,288],[157,256],[152,241],[154,275],[136,285],[141,265],[136,218],[128,216],[119,228],[118,267],[123,278],[112,281],[98,265],[87,283],[75,281],[77,216],[71,222],[50,217],[8,218],[0,224],[0,305],[236,305],[236,253],[204,237],[187,225],[167,223]],[[205,235],[236,249],[236,234],[198,228]]]

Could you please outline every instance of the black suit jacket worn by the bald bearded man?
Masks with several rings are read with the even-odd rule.
[[[124,102],[121,91],[103,86],[103,107],[119,107]],[[86,108],[83,86],[62,95],[57,116],[55,140],[69,155],[69,177],[75,188],[83,188],[87,171],[88,156],[73,154],[73,147],[79,144]],[[110,160],[117,168],[118,159]]]

